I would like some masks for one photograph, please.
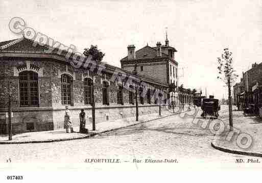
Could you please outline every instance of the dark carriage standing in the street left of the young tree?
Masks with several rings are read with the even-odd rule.
[[[218,119],[220,110],[219,100],[214,98],[203,98],[201,109],[203,110],[203,118],[210,115]]]

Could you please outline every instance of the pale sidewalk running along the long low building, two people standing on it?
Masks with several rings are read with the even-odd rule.
[[[178,114],[178,113],[175,113]],[[12,136],[12,140],[8,141],[8,135],[0,136],[0,144],[21,144],[21,143],[44,143],[44,142],[59,142],[66,140],[76,140],[89,138],[99,133],[108,132],[109,130],[127,127],[135,125],[141,122],[147,122],[150,120],[164,118],[170,115],[174,115],[169,111],[161,112],[161,117],[158,113],[140,115],[139,120],[135,121],[135,117],[129,117],[124,119],[118,119],[115,121],[103,121],[96,123],[96,131],[92,131],[92,123],[86,124],[86,128],[89,130],[89,134],[79,133],[79,126],[74,126],[76,133],[65,133],[65,129],[43,131],[43,132],[29,132]]]

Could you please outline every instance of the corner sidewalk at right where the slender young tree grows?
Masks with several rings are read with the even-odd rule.
[[[228,113],[225,113],[221,117],[225,121],[225,124],[229,123]],[[217,139],[213,140],[212,144],[218,147],[218,149],[222,148],[219,150],[226,152],[262,156],[262,119],[255,116],[244,116],[243,111],[233,111],[233,127],[240,130],[239,134],[246,133],[252,137],[252,145],[250,147],[243,149],[237,145],[237,133],[233,135],[230,141],[227,141],[228,131],[217,136]],[[245,143],[246,141],[243,141],[243,144]]]

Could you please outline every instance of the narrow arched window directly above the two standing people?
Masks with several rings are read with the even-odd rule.
[[[61,102],[62,105],[72,104],[73,77],[61,75]]]

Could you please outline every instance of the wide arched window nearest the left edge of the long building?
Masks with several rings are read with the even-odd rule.
[[[33,71],[19,73],[20,106],[39,106],[38,74]]]

